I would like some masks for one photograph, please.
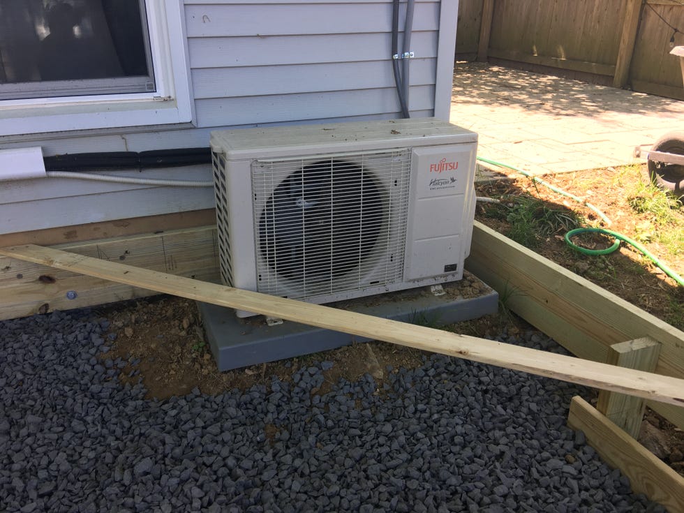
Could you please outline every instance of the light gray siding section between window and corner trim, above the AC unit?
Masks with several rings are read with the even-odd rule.
[[[436,1],[415,3],[416,114],[433,114],[439,14]],[[391,1],[186,1],[186,20],[199,127],[399,112],[389,60]]]

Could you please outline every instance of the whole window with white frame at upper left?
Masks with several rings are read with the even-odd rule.
[[[181,0],[0,0],[0,135],[191,121]]]

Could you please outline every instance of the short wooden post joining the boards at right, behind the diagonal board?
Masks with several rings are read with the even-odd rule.
[[[613,344],[608,348],[607,364],[653,372],[660,357],[660,343],[644,337]],[[632,438],[639,438],[646,403],[643,399],[602,390],[596,409]]]

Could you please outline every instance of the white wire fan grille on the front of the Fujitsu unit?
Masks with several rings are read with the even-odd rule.
[[[410,151],[252,165],[258,290],[306,299],[403,278]]]

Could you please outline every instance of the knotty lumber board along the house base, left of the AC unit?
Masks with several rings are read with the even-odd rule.
[[[218,281],[215,226],[74,242],[56,247],[94,258],[126,262],[135,267],[203,281]],[[156,293],[68,270],[0,257],[0,319],[93,306]]]

